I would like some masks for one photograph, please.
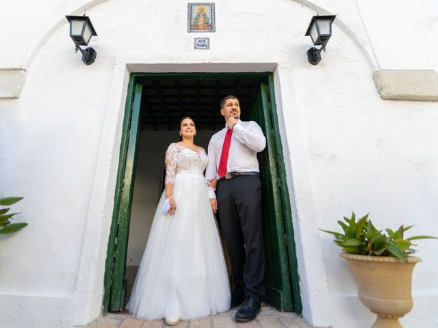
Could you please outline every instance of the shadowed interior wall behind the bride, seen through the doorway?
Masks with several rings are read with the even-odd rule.
[[[213,131],[198,131],[196,145],[207,151],[208,141],[213,133]],[[157,203],[162,195],[166,149],[170,143],[178,141],[177,131],[142,131],[132,198],[126,265],[140,265]]]

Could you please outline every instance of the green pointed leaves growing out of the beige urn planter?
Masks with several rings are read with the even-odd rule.
[[[344,222],[345,221],[345,222]],[[413,226],[400,226],[397,230],[385,229],[385,232],[377,230],[368,219],[368,214],[356,221],[353,212],[351,218],[344,217],[344,221],[337,221],[344,233],[322,230],[335,236],[334,242],[349,254],[368,256],[395,256],[407,260],[409,254],[415,253],[411,241],[417,239],[438,239],[434,236],[412,236],[404,238],[404,232]],[[414,245],[415,246],[415,245]]]

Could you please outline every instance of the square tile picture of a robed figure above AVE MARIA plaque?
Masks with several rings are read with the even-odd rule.
[[[188,32],[214,32],[214,2],[188,3]]]

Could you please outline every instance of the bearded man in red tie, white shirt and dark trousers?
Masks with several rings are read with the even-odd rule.
[[[209,197],[214,213],[220,216],[233,270],[231,308],[241,305],[235,320],[247,322],[260,312],[265,294],[257,152],[265,148],[266,138],[256,122],[240,120],[237,97],[223,98],[220,113],[226,126],[210,139],[205,178],[219,179],[216,195],[211,189]]]

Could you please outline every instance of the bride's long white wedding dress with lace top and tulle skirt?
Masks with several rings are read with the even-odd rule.
[[[159,200],[127,309],[144,320],[190,320],[229,310],[230,288],[218,228],[203,176],[205,150],[170,144],[166,183],[175,215]]]

